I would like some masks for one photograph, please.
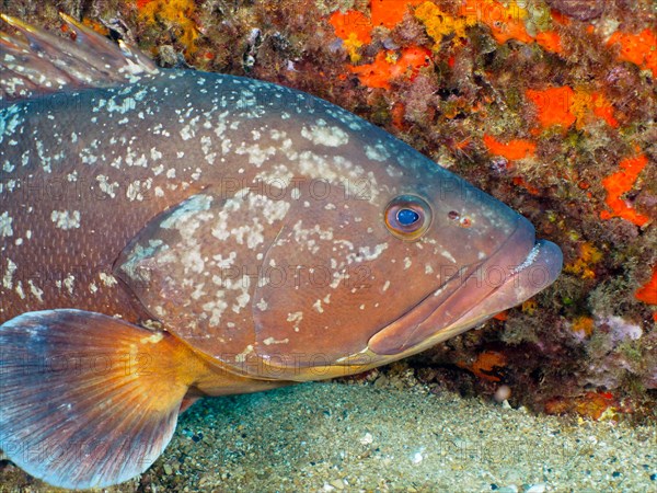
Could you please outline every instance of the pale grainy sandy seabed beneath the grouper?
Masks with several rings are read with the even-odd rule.
[[[9,467],[0,491],[51,491]],[[655,492],[657,426],[372,386],[206,399],[141,478],[106,491]]]

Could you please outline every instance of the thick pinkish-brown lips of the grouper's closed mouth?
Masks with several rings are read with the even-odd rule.
[[[535,241],[533,226],[521,217],[492,255],[461,268],[370,337],[368,348],[381,356],[418,353],[531,298],[558,277],[562,265],[560,248],[551,241]]]

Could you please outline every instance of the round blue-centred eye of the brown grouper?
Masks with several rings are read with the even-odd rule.
[[[431,223],[431,208],[415,195],[400,195],[385,207],[385,226],[401,240],[419,239]]]

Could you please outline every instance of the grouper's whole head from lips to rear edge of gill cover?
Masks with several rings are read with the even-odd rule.
[[[192,77],[165,83],[196,85]],[[148,312],[210,356],[281,369],[240,369],[267,378],[353,372],[463,332],[561,271],[558,248],[537,243],[526,218],[382,129],[264,82],[217,87],[254,100],[219,123],[226,168],[208,167],[204,187],[115,263]],[[276,95],[289,104],[267,111]],[[208,157],[192,153],[203,141],[212,151],[199,140],[177,142],[186,161]]]

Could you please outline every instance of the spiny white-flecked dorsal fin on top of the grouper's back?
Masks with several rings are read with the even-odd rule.
[[[74,41],[0,14],[20,33],[0,32],[0,99],[106,88],[158,72],[155,64],[136,47],[124,42],[117,45],[69,15],[59,15],[76,34]]]

